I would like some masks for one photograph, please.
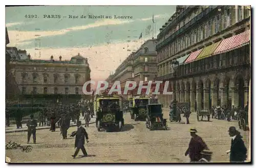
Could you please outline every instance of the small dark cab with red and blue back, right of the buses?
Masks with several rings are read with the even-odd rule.
[[[146,115],[146,128],[150,130],[164,128],[167,130],[166,119],[163,118],[161,104],[148,104]]]

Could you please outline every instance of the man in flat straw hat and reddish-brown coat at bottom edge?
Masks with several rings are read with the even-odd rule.
[[[202,158],[201,152],[203,150],[209,150],[203,139],[198,136],[195,128],[189,130],[191,139],[188,145],[188,149],[185,152],[185,156],[189,155],[190,162],[197,162]]]

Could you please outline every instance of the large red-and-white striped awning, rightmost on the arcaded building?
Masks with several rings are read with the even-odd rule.
[[[221,41],[217,49],[212,53],[212,55],[222,54],[229,52],[235,49],[238,49],[241,46],[249,44],[250,41],[250,30],[247,30],[238,35],[226,38]]]

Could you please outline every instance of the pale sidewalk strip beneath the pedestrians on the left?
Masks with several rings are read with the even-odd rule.
[[[82,122],[82,125],[86,124],[82,115],[80,116],[79,121]],[[91,121],[89,122],[89,124],[93,124],[93,123],[95,123],[95,116],[91,118]],[[75,126],[76,124],[74,124],[73,122],[70,122],[70,127],[75,127]],[[36,127],[36,130],[42,130],[42,129],[50,129],[50,126]],[[19,128],[19,129],[17,129],[16,125],[10,125],[10,127],[7,127],[7,126],[5,127],[5,133],[26,132],[26,131],[28,131],[28,127],[26,126],[26,124],[22,124],[22,128]]]

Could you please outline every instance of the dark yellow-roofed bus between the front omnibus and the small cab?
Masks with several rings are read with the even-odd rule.
[[[140,97],[133,98],[132,105],[130,104],[131,118],[137,121],[137,119],[146,118],[146,106],[150,104],[150,98]]]

